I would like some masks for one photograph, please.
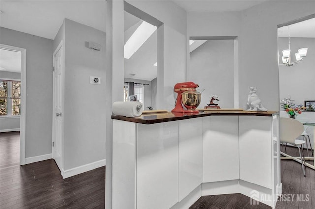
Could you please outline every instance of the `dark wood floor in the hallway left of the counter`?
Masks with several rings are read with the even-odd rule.
[[[19,165],[19,132],[0,133],[0,209],[105,205],[105,167],[63,179],[54,160]]]

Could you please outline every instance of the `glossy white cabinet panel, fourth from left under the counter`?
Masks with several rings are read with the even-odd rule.
[[[238,116],[203,118],[203,182],[239,179]]]

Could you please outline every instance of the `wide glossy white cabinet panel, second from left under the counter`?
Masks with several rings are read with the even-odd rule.
[[[137,124],[137,209],[178,202],[178,122]]]

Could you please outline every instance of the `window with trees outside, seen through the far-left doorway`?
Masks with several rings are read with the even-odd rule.
[[[0,116],[20,115],[21,81],[0,80]]]

